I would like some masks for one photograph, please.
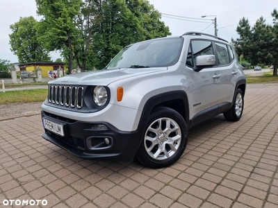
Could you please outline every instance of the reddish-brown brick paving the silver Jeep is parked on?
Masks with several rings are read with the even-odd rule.
[[[0,121],[0,207],[278,207],[277,114],[278,83],[248,85],[240,121],[193,128],[162,169],[75,157],[42,139],[39,115]]]

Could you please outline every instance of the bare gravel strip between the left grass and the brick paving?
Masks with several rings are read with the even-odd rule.
[[[0,104],[0,121],[40,114],[42,102]]]

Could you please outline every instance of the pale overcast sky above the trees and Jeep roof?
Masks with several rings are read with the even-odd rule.
[[[278,9],[277,0],[149,0],[149,3],[161,12],[161,20],[169,26],[172,35],[190,31],[214,35],[213,19],[216,17],[218,37],[228,42],[231,42],[232,37],[238,37],[236,26],[243,17],[249,19],[251,26],[261,16],[268,24],[272,24],[271,12]],[[35,0],[0,0],[1,60],[18,62],[17,56],[10,51],[10,25],[19,21],[19,17],[33,16],[40,20],[36,9]],[[54,61],[60,58],[56,52],[50,55]]]

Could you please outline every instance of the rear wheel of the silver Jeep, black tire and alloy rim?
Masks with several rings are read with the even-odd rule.
[[[231,106],[231,109],[227,112],[224,112],[223,115],[227,121],[238,121],[243,115],[243,92],[241,89],[236,89],[236,96],[234,99],[234,103]]]

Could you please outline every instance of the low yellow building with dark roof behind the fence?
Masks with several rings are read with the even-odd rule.
[[[59,67],[65,70],[64,62],[30,62],[26,64],[19,64],[20,71],[35,71],[40,67],[42,69],[42,77],[47,77],[50,74],[54,74]]]

